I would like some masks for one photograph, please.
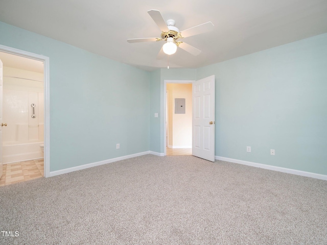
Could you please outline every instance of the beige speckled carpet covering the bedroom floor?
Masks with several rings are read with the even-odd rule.
[[[327,244],[327,181],[146,155],[0,187],[0,244]]]

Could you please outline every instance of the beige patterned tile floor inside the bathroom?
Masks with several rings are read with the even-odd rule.
[[[42,159],[3,164],[0,186],[34,180],[44,176]]]

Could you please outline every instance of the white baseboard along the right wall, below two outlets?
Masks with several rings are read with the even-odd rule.
[[[265,169],[279,171],[279,172],[283,172],[283,173],[287,173],[287,174],[311,177],[311,178],[315,178],[315,179],[319,179],[319,180],[327,180],[327,175],[320,175],[320,174],[316,174],[316,173],[311,173],[311,172],[306,172],[306,171],[301,171],[301,170],[296,170],[296,169],[291,169],[291,168],[277,167],[277,166],[271,166],[271,165],[266,165],[266,164],[262,164],[262,163],[248,162],[248,161],[232,159],[232,158],[227,158],[227,157],[219,157],[219,156],[215,156],[215,159],[226,161],[226,162],[239,163],[239,164],[248,165],[248,166],[252,166],[252,167],[265,168]]]

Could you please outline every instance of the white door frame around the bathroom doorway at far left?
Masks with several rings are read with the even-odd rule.
[[[43,62],[44,90],[44,177],[50,177],[50,59],[49,57],[30,53],[0,44],[0,51]]]

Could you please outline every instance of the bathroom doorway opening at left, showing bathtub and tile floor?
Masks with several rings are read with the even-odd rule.
[[[3,176],[0,186],[44,177],[44,63],[1,52]]]

